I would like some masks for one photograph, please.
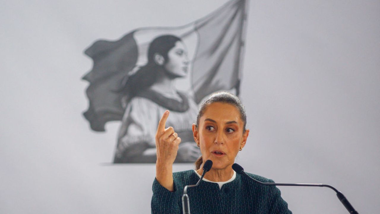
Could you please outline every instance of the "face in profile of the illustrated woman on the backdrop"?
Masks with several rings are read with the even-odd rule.
[[[164,65],[165,70],[174,77],[184,77],[187,74],[188,64],[186,46],[183,42],[177,41],[168,52],[168,62]]]

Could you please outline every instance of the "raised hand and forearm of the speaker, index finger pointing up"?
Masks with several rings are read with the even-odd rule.
[[[177,156],[180,137],[174,132],[173,127],[165,128],[169,111],[166,110],[158,122],[156,133],[156,179],[163,187],[173,191],[173,163]]]

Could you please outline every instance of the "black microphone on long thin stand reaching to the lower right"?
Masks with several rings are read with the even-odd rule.
[[[348,202],[347,198],[341,192],[339,192],[336,188],[334,188],[334,187],[332,187],[330,185],[327,185],[327,184],[280,184],[280,183],[264,183],[264,182],[255,180],[253,177],[250,177],[249,175],[247,175],[247,173],[244,172],[244,169],[239,164],[237,164],[237,163],[232,164],[232,169],[235,172],[237,172],[239,174],[242,174],[244,176],[247,176],[250,179],[252,179],[254,182],[262,184],[262,185],[272,185],[272,186],[302,186],[302,187],[328,187],[328,188],[331,188],[332,190],[334,190],[336,192],[336,196],[338,196],[339,201],[342,202],[342,204],[348,210],[348,212],[350,212],[351,214],[359,214],[353,208],[353,206],[350,204],[350,202]]]

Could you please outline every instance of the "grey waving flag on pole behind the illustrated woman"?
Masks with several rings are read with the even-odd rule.
[[[186,45],[189,75],[178,88],[191,91],[196,103],[208,94],[231,90],[239,94],[247,0],[231,0],[206,17],[180,27],[135,29],[117,41],[98,40],[85,50],[93,68],[89,81],[89,108],[84,113],[94,131],[105,131],[108,121],[122,120],[125,112],[120,86],[147,64],[150,42],[175,35]]]

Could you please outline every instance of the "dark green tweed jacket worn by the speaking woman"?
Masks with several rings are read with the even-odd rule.
[[[261,182],[273,182],[255,174],[249,176]],[[196,184],[199,177],[193,170],[174,172],[174,192],[153,182],[152,213],[182,213],[182,194],[185,185]],[[288,204],[275,186],[257,184],[236,174],[236,178],[222,189],[212,182],[202,181],[198,187],[188,188],[191,214],[291,214]]]

